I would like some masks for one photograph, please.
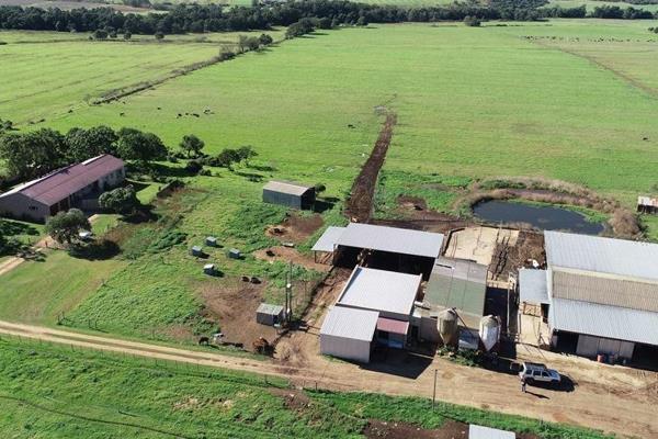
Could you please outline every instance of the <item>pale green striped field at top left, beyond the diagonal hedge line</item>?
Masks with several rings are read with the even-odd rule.
[[[280,37],[281,32],[272,32]],[[152,36],[131,42],[89,41],[89,34],[0,32],[0,117],[14,123],[49,120],[84,109],[103,92],[158,79],[218,55],[237,33]],[[66,68],[63,68],[63,65]]]

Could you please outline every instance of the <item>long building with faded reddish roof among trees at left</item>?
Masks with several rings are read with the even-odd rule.
[[[95,209],[99,195],[125,179],[123,160],[102,155],[0,194],[0,214],[44,222],[70,207]]]

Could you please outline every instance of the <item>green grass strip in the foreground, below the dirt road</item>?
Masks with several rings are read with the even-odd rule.
[[[423,398],[302,392],[304,401],[290,406],[282,380],[5,337],[0,352],[0,431],[12,438],[356,438],[370,419],[426,428],[456,419],[546,439],[605,438],[452,404],[432,409]]]

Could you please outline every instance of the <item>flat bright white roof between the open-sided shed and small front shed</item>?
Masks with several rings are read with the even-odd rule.
[[[356,267],[337,305],[407,315],[413,308],[421,280],[420,274]]]

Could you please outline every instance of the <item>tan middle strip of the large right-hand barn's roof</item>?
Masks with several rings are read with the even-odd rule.
[[[553,270],[553,297],[658,313],[658,282]]]

